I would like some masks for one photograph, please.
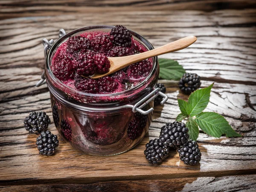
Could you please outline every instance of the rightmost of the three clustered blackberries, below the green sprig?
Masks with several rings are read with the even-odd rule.
[[[178,148],[180,160],[186,165],[197,165],[201,160],[201,152],[196,141],[188,140],[184,145]]]

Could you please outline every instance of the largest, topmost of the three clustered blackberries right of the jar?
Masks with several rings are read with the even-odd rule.
[[[166,123],[161,128],[160,141],[166,146],[179,146],[186,143],[189,139],[188,128],[183,122]]]

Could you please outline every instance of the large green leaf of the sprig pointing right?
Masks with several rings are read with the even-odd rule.
[[[195,122],[206,134],[212,137],[221,137],[222,134],[226,134],[226,137],[241,137],[233,130],[227,120],[218,113],[200,113],[196,116]]]

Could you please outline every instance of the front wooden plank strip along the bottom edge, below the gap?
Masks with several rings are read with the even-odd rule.
[[[52,185],[20,185],[0,186],[5,192],[209,192],[209,191],[244,191],[254,192],[256,189],[256,175],[236,175],[224,177],[186,177],[156,180],[124,180],[111,182],[97,182],[90,184],[52,184]]]

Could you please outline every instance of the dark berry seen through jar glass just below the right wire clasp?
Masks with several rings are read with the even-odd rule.
[[[128,125],[127,134],[131,140],[138,139],[143,133],[143,128],[146,126],[147,116],[141,113],[135,113],[134,119]]]

